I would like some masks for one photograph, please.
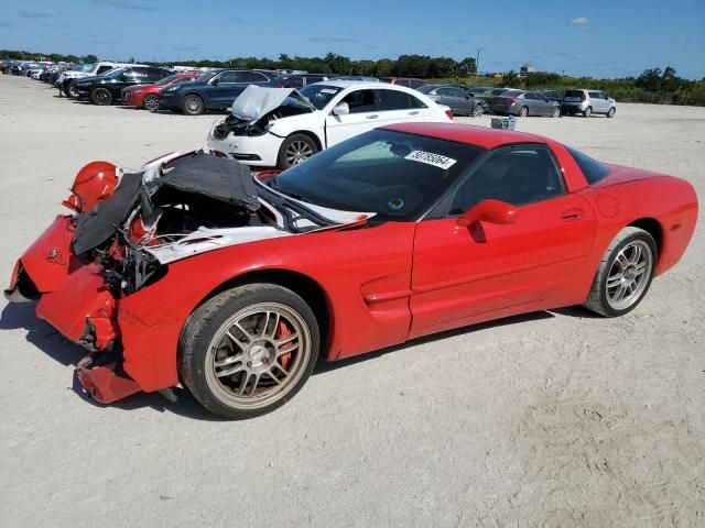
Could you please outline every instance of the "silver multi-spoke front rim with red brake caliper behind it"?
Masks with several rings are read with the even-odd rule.
[[[296,310],[259,302],[227,319],[210,340],[206,383],[223,404],[259,409],[296,386],[311,353],[311,332]]]

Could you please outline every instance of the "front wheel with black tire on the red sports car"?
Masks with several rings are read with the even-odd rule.
[[[194,397],[228,419],[270,413],[303,387],[318,359],[311,307],[274,284],[249,284],[202,305],[178,345],[178,371]]]

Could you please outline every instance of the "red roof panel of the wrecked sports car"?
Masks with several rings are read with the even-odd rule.
[[[485,148],[495,148],[510,143],[546,143],[546,140],[540,135],[513,130],[488,129],[487,127],[474,124],[416,122],[390,124],[383,127],[383,129],[455,141],[456,143],[467,143],[468,145],[478,145]]]

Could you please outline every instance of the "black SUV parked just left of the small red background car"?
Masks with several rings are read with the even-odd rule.
[[[166,68],[132,66],[116,69],[99,77],[76,79],[74,82],[79,98],[87,98],[94,105],[104,106],[119,102],[122,88],[134,85],[153,85],[169,75],[172,75],[172,72]]]

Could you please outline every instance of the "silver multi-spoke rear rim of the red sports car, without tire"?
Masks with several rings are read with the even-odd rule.
[[[653,253],[641,240],[625,245],[612,261],[605,282],[606,299],[610,308],[625,310],[641,298],[649,284]]]

